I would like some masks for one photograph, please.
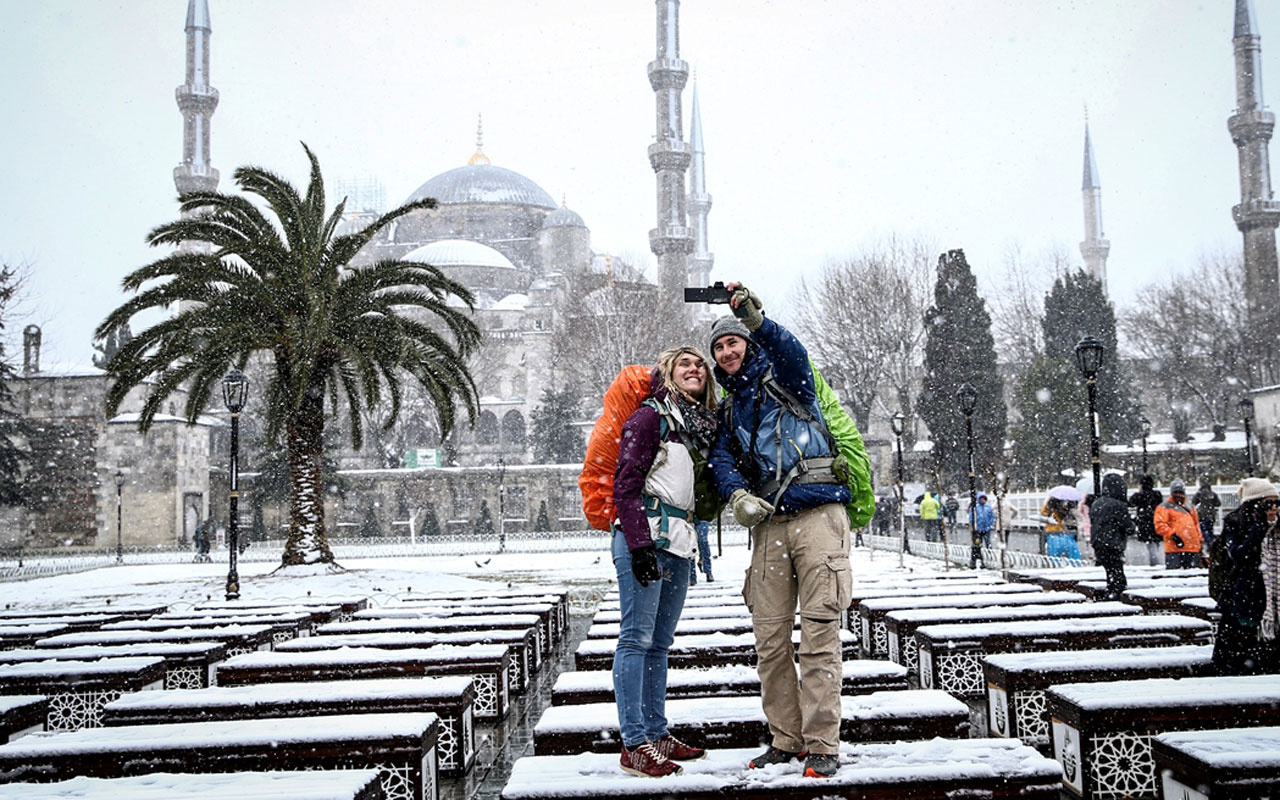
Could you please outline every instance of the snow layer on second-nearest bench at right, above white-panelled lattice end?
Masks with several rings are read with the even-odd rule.
[[[1084,710],[1280,705],[1280,675],[1059,684],[1050,691]]]

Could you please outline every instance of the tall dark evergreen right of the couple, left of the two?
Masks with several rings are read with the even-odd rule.
[[[978,296],[963,250],[938,257],[938,278],[933,287],[933,306],[924,314],[924,390],[920,393],[920,419],[933,440],[934,470],[943,485],[966,486],[969,480],[965,419],[956,392],[965,383],[978,392],[973,415],[974,466],[978,475],[989,471],[1004,454],[1004,381],[996,364],[996,342],[991,334],[991,315]]]

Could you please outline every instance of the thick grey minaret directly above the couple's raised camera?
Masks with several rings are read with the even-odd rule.
[[[658,58],[649,61],[649,84],[657,100],[657,141],[649,164],[658,175],[658,227],[649,248],[658,256],[658,288],[663,302],[676,303],[689,274],[694,237],[685,220],[685,170],[692,155],[684,141],[681,91],[689,64],[680,60],[680,0],[657,0]]]

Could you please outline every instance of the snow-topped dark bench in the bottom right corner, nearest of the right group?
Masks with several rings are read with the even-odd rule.
[[[1280,727],[1161,733],[1151,751],[1161,800],[1280,795]]]

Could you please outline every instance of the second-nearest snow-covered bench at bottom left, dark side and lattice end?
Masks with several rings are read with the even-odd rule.
[[[435,800],[431,713],[178,722],[83,728],[0,745],[0,783],[152,772],[376,769],[397,800]],[[5,794],[0,787],[0,794]]]

